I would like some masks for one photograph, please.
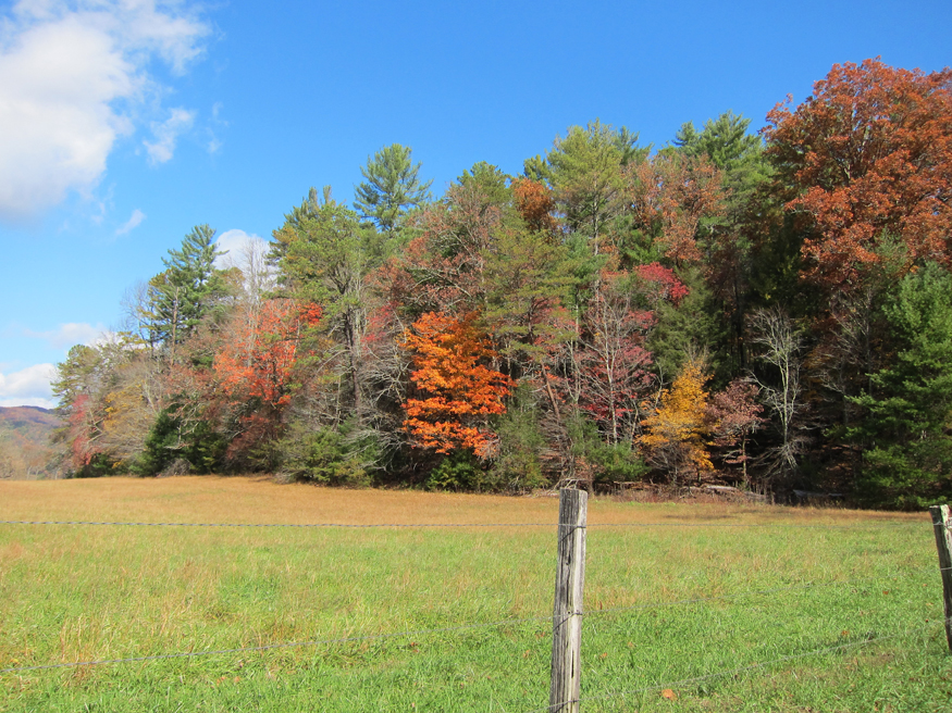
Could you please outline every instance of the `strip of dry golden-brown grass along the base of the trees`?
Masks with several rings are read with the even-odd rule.
[[[554,497],[343,490],[282,485],[264,476],[0,481],[0,503],[2,520],[372,525],[554,523],[558,517],[558,499]],[[589,508],[593,525],[672,521],[761,524],[778,520],[845,525],[924,518],[924,513],[734,502],[636,503],[609,497],[595,498]]]

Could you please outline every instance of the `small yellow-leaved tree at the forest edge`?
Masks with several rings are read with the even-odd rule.
[[[707,378],[696,362],[689,362],[671,388],[662,391],[657,413],[643,422],[646,433],[638,442],[645,460],[670,473],[672,485],[714,467],[706,442],[710,430],[704,390]]]

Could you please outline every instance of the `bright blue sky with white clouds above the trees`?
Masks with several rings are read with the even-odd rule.
[[[236,253],[382,146],[442,193],[599,118],[660,147],[764,125],[834,63],[952,64],[952,2],[0,2],[0,405],[54,405],[74,343],[193,226]]]

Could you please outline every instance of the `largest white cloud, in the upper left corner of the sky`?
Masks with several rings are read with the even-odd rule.
[[[134,109],[161,93],[149,63],[183,72],[208,32],[158,0],[20,0],[0,16],[0,217],[89,196],[116,138],[135,130]],[[176,112],[188,113],[173,110],[173,129]],[[174,136],[157,133],[150,157],[168,160]]]

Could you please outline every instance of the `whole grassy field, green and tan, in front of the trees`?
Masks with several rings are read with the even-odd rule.
[[[18,668],[0,711],[545,710],[557,511],[254,478],[0,483],[0,520],[552,524],[0,525],[0,670]],[[595,499],[589,523],[583,711],[952,709],[926,514]]]

